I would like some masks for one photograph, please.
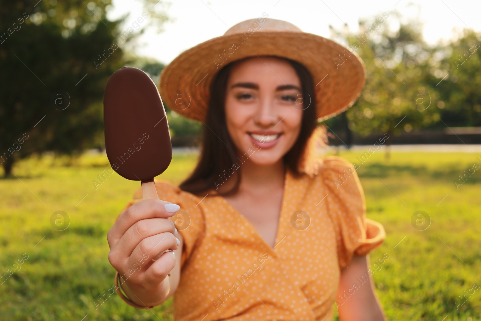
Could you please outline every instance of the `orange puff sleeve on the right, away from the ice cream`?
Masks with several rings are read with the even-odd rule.
[[[380,223],[366,218],[366,199],[353,164],[341,157],[326,157],[320,175],[328,188],[328,213],[336,232],[339,265],[344,268],[354,255],[379,247],[386,233]]]

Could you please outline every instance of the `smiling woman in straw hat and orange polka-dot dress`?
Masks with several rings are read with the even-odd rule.
[[[165,201],[138,191],[109,231],[124,301],[174,295],[176,320],[204,321],[328,321],[336,301],[340,320],[384,320],[366,257],[384,230],[353,165],[312,153],[317,120],[364,83],[353,52],[267,18],[165,67],[162,97],[203,122],[202,153],[179,187],[156,181]]]

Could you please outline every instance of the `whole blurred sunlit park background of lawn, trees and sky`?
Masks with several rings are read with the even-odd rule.
[[[263,13],[359,44],[366,87],[319,123],[318,153],[359,166],[367,216],[386,229],[370,257],[389,255],[372,276],[387,320],[481,320],[480,12],[453,0],[0,2],[0,320],[173,320],[172,299],[138,310],[106,294],[106,234],[140,184],[107,160],[105,83],[129,65],[158,85],[179,53]],[[174,155],[158,179],[178,184],[202,124],[166,112]]]

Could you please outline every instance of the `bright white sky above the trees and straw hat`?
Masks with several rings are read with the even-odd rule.
[[[164,1],[164,0],[163,0]],[[149,27],[132,50],[141,57],[170,63],[178,54],[203,41],[222,36],[235,24],[267,13],[269,18],[288,21],[304,32],[329,38],[329,25],[342,30],[358,30],[359,19],[375,18],[383,12],[400,13],[402,19],[423,23],[424,39],[430,44],[446,42],[456,37],[463,28],[481,31],[481,0],[171,0],[167,14],[173,22],[166,23],[164,32]],[[160,5],[159,5],[160,7]],[[160,8],[157,8],[160,9]],[[108,19],[127,13],[123,29],[141,16],[141,0],[113,0]],[[386,19],[391,29],[399,24]]]

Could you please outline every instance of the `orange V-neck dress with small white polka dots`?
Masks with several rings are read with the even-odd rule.
[[[155,184],[181,208],[172,217],[184,238],[176,321],[330,321],[341,269],[385,238],[366,218],[353,165],[339,157],[324,158],[312,177],[287,170],[274,248],[214,191],[203,198]]]

